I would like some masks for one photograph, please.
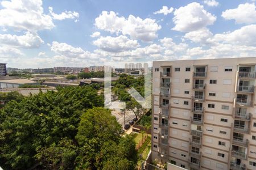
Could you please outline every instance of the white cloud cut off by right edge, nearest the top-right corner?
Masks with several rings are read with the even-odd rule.
[[[256,23],[256,10],[254,3],[240,4],[237,8],[226,10],[222,12],[223,18],[236,20],[238,24]]]

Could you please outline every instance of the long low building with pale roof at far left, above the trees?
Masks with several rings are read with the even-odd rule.
[[[5,88],[17,88],[24,84],[38,84],[32,80],[28,79],[9,79],[9,80],[0,80],[0,89]]]

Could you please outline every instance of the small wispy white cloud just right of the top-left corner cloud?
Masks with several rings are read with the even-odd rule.
[[[61,14],[55,14],[53,12],[53,8],[49,7],[49,13],[52,16],[52,19],[56,19],[56,20],[64,20],[64,19],[75,19],[75,22],[77,22],[78,18],[79,18],[79,13],[76,11],[65,11],[65,12],[61,12]]]

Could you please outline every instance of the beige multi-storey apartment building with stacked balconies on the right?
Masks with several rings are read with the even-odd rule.
[[[153,62],[152,161],[256,169],[256,58]]]

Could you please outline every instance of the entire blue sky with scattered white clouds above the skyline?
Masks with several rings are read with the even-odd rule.
[[[106,61],[255,57],[255,1],[0,1],[0,62],[86,67]]]

